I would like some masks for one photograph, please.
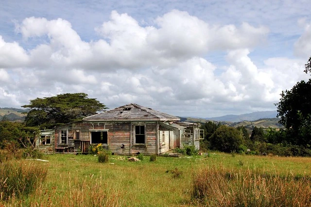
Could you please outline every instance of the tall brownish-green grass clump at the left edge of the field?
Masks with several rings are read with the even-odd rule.
[[[47,172],[46,166],[29,160],[0,163],[0,200],[27,196],[46,179]]]

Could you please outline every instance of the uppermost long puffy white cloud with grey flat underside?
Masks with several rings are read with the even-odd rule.
[[[95,29],[103,39],[91,42],[82,41],[71,24],[61,18],[25,18],[17,24],[16,30],[28,41],[31,38],[42,40],[28,55],[23,55],[24,59],[30,60],[25,64],[29,67],[81,67],[106,71],[154,65],[169,67],[181,59],[203,56],[210,50],[251,48],[262,42],[268,32],[264,27],[256,28],[247,23],[240,28],[209,26],[198,17],[178,10],[158,16],[154,25],[147,27],[140,26],[127,14],[112,11],[110,20]]]

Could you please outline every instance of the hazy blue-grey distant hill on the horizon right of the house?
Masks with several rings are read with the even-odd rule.
[[[252,113],[244,113],[240,115],[225,115],[218,117],[204,118],[213,121],[227,121],[227,122],[242,122],[242,121],[254,121],[262,118],[276,118],[277,111],[258,111]]]

